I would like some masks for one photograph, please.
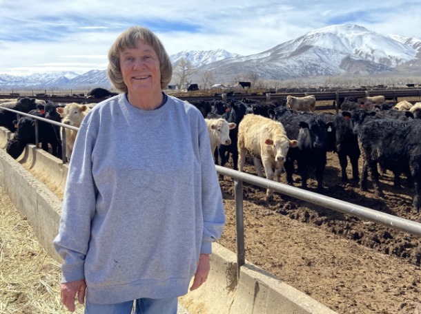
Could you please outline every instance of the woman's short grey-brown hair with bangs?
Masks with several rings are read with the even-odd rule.
[[[165,89],[173,76],[173,65],[170,56],[166,52],[164,45],[157,35],[148,28],[132,26],[122,32],[112,44],[108,52],[108,78],[112,85],[120,92],[127,92],[127,86],[123,81],[120,69],[120,54],[126,49],[133,49],[137,46],[137,41],[143,41],[155,50],[159,57],[159,70],[161,71],[161,89]]]

